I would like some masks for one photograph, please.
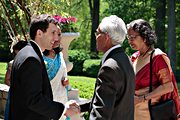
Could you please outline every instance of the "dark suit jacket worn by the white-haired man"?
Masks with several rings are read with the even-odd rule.
[[[135,74],[128,56],[121,47],[112,50],[102,64],[96,79],[89,109],[90,120],[134,120]]]

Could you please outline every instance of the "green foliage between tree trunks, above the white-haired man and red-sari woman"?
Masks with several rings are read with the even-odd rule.
[[[104,0],[109,8],[104,13],[115,14],[121,17],[125,23],[142,18],[150,20],[155,15],[155,8],[151,0]]]

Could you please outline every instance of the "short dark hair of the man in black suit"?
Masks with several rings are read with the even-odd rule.
[[[30,37],[32,40],[35,39],[37,30],[41,30],[42,32],[46,32],[49,27],[49,23],[57,24],[58,21],[55,20],[48,14],[38,15],[32,18],[30,23]]]

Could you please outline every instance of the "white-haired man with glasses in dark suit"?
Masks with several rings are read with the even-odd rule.
[[[80,105],[90,112],[90,120],[134,119],[134,70],[121,45],[127,30],[124,21],[111,15],[96,30],[97,50],[104,53],[98,72],[94,96]]]

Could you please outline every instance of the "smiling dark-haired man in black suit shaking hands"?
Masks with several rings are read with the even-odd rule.
[[[48,15],[32,18],[31,41],[16,55],[11,73],[9,120],[58,120],[73,109],[54,102],[42,51],[60,38],[57,22]],[[75,105],[75,104],[74,104]]]

